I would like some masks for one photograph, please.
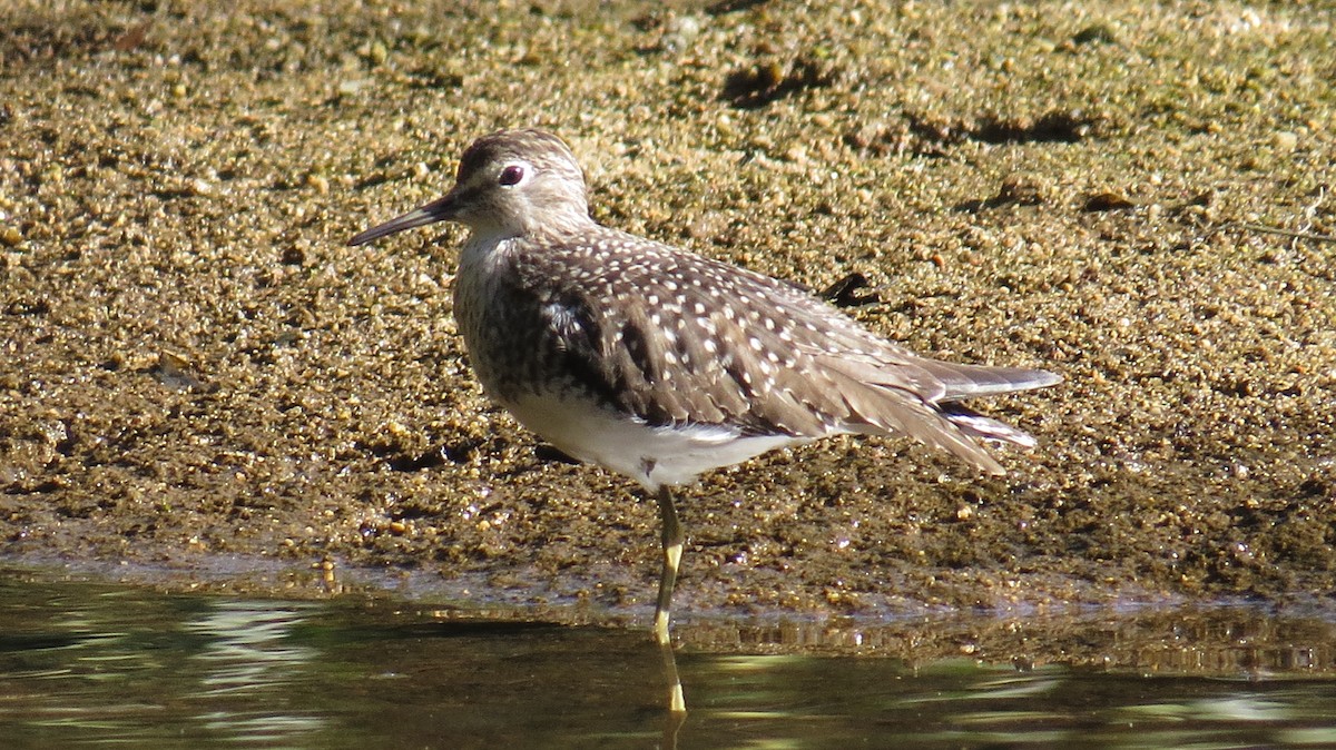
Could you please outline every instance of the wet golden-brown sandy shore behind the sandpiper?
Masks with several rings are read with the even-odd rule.
[[[461,232],[346,246],[537,124],[604,223],[1066,378],[985,407],[1041,443],[1002,479],[860,439],[707,476],[683,611],[1332,606],[1329,4],[460,5],[0,12],[5,556],[652,605],[653,503],[474,382]]]

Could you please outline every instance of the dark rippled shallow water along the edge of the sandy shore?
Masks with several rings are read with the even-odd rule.
[[[862,647],[828,625],[688,627],[679,726],[641,630],[13,569],[0,601],[7,747],[1336,746],[1331,623],[1241,610],[1193,621],[1229,623],[1206,626],[1213,649],[1193,627],[1156,649],[1144,627],[1090,626],[1088,641],[1121,633],[1130,649],[1102,646],[1102,667],[987,663],[967,646],[911,665],[876,655],[891,639],[876,627]]]

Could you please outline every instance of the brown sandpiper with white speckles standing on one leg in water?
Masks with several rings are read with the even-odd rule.
[[[454,315],[488,394],[657,498],[660,645],[684,540],[675,484],[851,432],[908,435],[1003,474],[981,442],[1034,439],[958,402],[1061,380],[919,356],[795,286],[604,227],[574,155],[544,131],[480,137],[444,198],[351,244],[433,222],[470,230]]]

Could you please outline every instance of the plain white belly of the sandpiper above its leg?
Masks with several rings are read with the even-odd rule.
[[[709,426],[649,427],[578,398],[528,395],[502,406],[566,455],[629,476],[649,491],[687,484],[703,471],[812,439],[739,436],[736,430]]]

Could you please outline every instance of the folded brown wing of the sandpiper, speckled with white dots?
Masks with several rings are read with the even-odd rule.
[[[600,230],[581,244],[545,243],[524,272],[557,290],[544,310],[568,372],[649,424],[903,434],[997,472],[938,403],[1049,382],[916,356],[788,284]]]

